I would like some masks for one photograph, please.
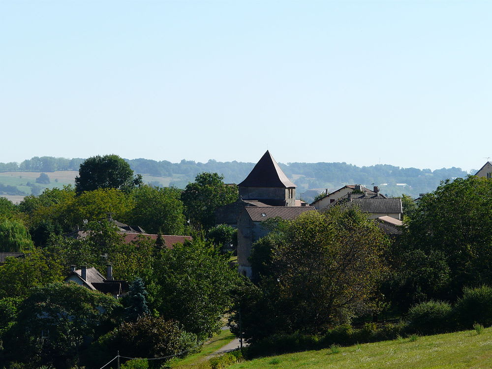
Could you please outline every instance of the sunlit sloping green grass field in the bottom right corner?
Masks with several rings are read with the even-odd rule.
[[[245,361],[228,369],[461,369],[492,368],[492,328],[462,331]]]

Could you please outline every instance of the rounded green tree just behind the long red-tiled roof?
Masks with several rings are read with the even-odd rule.
[[[146,232],[182,235],[185,218],[181,190],[174,187],[143,185],[132,192],[135,206],[126,221],[141,226]]]

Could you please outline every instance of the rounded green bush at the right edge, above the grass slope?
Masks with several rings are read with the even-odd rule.
[[[461,328],[471,328],[474,323],[492,326],[492,287],[483,285],[463,289],[463,297],[455,305]]]

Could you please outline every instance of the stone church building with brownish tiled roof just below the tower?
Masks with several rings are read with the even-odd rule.
[[[312,206],[246,206],[238,218],[238,269],[243,276],[251,278],[249,255],[251,246],[270,230],[263,227],[266,219],[292,220],[305,212],[313,212]]]

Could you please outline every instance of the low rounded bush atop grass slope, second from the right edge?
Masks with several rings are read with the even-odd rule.
[[[453,308],[446,302],[428,301],[408,310],[409,330],[421,335],[433,335],[451,331]]]

